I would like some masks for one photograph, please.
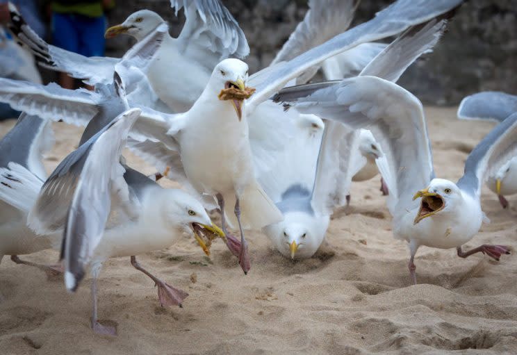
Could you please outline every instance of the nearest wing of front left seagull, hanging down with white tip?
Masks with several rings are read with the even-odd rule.
[[[61,249],[69,290],[77,288],[84,276],[84,267],[101,240],[111,210],[111,192],[115,190],[120,195],[119,190],[122,190],[129,197],[123,178],[125,170],[119,160],[127,133],[138,115],[140,110],[133,108],[113,119],[89,141],[88,149],[81,156],[81,166],[76,166],[76,187],[66,217]]]

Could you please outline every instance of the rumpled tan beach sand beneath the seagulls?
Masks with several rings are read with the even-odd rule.
[[[454,108],[426,113],[436,174],[455,180],[493,124],[459,122]],[[11,126],[2,123],[0,135]],[[80,133],[63,123],[54,128],[49,171]],[[47,281],[43,272],[4,258],[0,354],[517,353],[517,257],[461,259],[454,249],[422,247],[420,284],[410,286],[407,245],[393,239],[379,179],[353,184],[352,206],[336,211],[327,240],[309,260],[284,258],[259,232],[247,234],[247,276],[221,242],[211,259],[188,236],[140,256],[142,265],[190,294],[183,308],[161,308],[156,288],[129,258],[110,260],[99,281],[99,317],[117,325],[116,338],[90,330],[90,279],[72,295],[62,280]],[[503,210],[484,188],[491,224],[466,247],[491,242],[516,249],[517,199],[509,201]],[[54,262],[57,253],[25,258]]]

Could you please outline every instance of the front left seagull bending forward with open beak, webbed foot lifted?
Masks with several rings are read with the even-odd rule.
[[[27,202],[24,213],[37,233],[63,233],[64,227],[65,285],[76,290],[84,268],[90,267],[92,329],[101,334],[115,335],[114,328],[97,321],[97,278],[104,261],[131,256],[131,265],[158,286],[162,306],[181,305],[188,294],[145,270],[136,255],[170,247],[183,231],[220,233],[197,199],[163,189],[120,163],[125,137],[138,115],[140,109],[133,108],[117,116],[69,154],[45,183],[22,165],[10,163],[10,187],[1,188],[10,199]],[[42,220],[44,209],[49,218]]]

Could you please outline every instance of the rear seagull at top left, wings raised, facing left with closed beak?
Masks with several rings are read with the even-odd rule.
[[[172,0],[171,6],[176,9],[176,14],[183,8],[186,15],[186,23],[178,38],[172,38],[165,20],[150,10],[137,11],[123,24],[108,28],[106,38],[127,33],[140,41],[158,26],[165,26],[167,33],[163,46],[149,65],[147,79],[153,94],[166,106],[158,101],[158,107],[153,108],[184,112],[203,91],[213,67],[230,56],[244,58],[249,47],[238,23],[219,0]],[[88,58],[54,47],[39,38],[13,6],[10,15],[10,30],[33,51],[43,67],[67,72],[89,85],[111,82],[119,58]],[[171,87],[178,90],[170,90]],[[146,102],[141,104],[149,106]]]

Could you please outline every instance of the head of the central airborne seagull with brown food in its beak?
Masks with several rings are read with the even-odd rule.
[[[243,117],[243,104],[254,92],[254,89],[246,88],[248,79],[248,66],[242,60],[230,58],[222,60],[215,66],[208,86],[218,92],[218,98],[228,101],[236,111],[240,121]]]

